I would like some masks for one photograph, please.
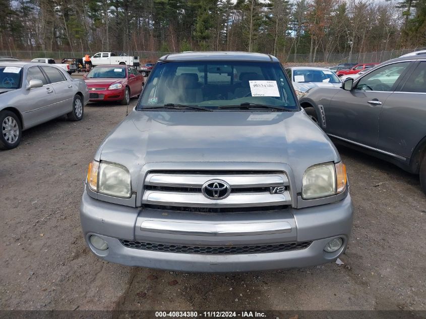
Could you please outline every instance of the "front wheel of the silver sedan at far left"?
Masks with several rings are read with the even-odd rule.
[[[0,149],[10,150],[19,145],[22,136],[22,125],[18,116],[11,111],[0,112],[2,132],[0,134]]]

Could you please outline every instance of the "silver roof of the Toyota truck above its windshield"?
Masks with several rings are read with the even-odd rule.
[[[181,52],[163,55],[159,61],[263,61],[278,62],[278,59],[270,54],[256,52],[232,52],[232,51],[204,51],[204,52]]]

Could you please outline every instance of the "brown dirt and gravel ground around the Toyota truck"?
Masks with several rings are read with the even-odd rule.
[[[132,100],[132,106],[136,100]],[[186,274],[102,262],[85,246],[87,164],[126,106],[88,105],[0,152],[0,309],[426,309],[426,197],[417,176],[346,148],[355,216],[344,265]]]

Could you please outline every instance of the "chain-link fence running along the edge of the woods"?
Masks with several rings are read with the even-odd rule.
[[[326,63],[329,65],[334,65],[336,63],[344,62],[383,62],[390,60],[392,58],[399,57],[403,54],[410,53],[418,50],[425,50],[425,47],[421,48],[412,48],[412,49],[400,49],[400,50],[391,50],[391,51],[376,51],[368,53],[329,53],[329,54],[316,54],[314,62],[316,63]],[[65,57],[68,58],[81,58],[86,53],[94,54],[96,52],[71,52],[71,51],[0,51],[0,55],[4,56],[15,56],[23,60],[31,60],[33,58],[39,57],[48,57],[56,59],[56,62],[59,62]],[[141,62],[154,62],[160,56],[173,53],[173,52],[160,52],[160,51],[129,51],[129,52],[116,52],[117,54],[125,53],[129,56],[139,56]],[[296,62],[296,63],[309,63],[313,61],[313,56],[310,54],[276,54],[277,58],[281,62]]]

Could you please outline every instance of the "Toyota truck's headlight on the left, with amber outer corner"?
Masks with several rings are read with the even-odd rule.
[[[120,164],[91,162],[87,182],[90,189],[97,193],[121,198],[132,196],[129,170]]]

